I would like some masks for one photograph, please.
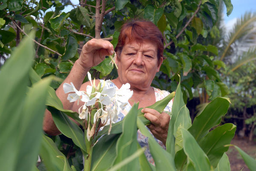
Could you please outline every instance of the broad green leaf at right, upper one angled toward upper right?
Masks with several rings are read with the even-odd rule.
[[[189,132],[198,142],[209,132],[209,129],[221,122],[221,117],[227,113],[229,99],[216,97],[210,102],[202,113],[195,117]]]

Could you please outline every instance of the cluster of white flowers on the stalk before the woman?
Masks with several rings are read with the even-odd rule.
[[[110,124],[108,133],[110,133],[111,123],[116,121],[118,112],[124,110],[133,91],[130,90],[129,83],[122,85],[120,89],[110,87],[108,81],[99,82],[96,86],[95,79],[92,82],[89,72],[87,75],[91,85],[87,85],[86,91],[78,91],[73,83],[64,83],[63,89],[65,93],[73,92],[67,97],[70,102],[78,101],[78,105],[79,101],[84,102],[79,108],[79,118],[87,121],[84,128],[87,129],[87,139],[90,141],[99,127],[108,122]]]

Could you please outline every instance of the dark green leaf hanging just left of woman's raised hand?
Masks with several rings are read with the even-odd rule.
[[[70,58],[74,57],[77,53],[78,43],[76,38],[68,35],[66,46],[65,46],[65,53],[62,55],[62,60],[69,60]]]

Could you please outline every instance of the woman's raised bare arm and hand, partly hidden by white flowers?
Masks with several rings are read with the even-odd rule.
[[[79,90],[90,68],[101,63],[105,56],[110,54],[113,54],[113,45],[107,40],[92,39],[83,46],[79,59],[76,60],[67,78],[56,90],[56,95],[61,100],[64,109],[72,110],[76,102],[70,103],[67,100],[68,94],[64,93],[63,84],[72,82]],[[61,133],[55,126],[52,115],[48,110],[45,111],[43,129],[50,135]]]

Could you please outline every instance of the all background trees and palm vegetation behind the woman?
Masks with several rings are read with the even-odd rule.
[[[227,15],[232,12],[230,0],[81,0],[76,5],[68,0],[3,0],[0,57],[1,61],[11,60],[10,54],[20,41],[35,30],[32,68],[41,78],[55,75],[64,79],[84,43],[91,38],[103,38],[115,46],[122,23],[131,18],[145,18],[156,24],[165,37],[166,59],[153,86],[172,92],[180,81],[183,100],[188,106],[198,100],[196,105],[201,104],[198,111],[215,97],[230,97],[232,105],[223,122],[235,123],[241,136],[247,134],[253,140],[256,16],[244,14],[225,36],[221,26],[223,8],[227,8]],[[116,77],[116,70],[109,62],[107,57],[93,67],[90,71],[93,77]],[[17,70],[22,70],[20,67]],[[51,87],[57,88],[60,83],[54,80]],[[195,105],[189,109],[193,109],[190,110],[193,120],[197,114],[193,112]],[[70,139],[63,135],[52,139],[70,163],[81,167],[82,154]]]

